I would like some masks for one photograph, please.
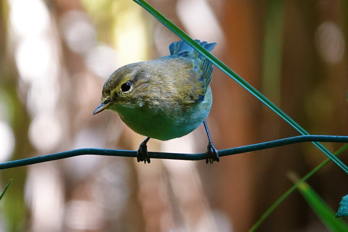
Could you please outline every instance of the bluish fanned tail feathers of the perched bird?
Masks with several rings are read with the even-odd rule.
[[[195,39],[195,41],[209,52],[213,50],[213,48],[216,45],[216,42],[212,42],[212,43],[208,43],[206,41],[201,42],[198,39]],[[195,49],[193,49],[190,45],[188,45],[186,42],[182,40],[171,43],[169,45],[169,52],[171,55],[188,56],[190,58],[199,58],[199,59],[204,58]]]

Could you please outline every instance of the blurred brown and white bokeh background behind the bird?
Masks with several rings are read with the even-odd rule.
[[[348,2],[148,0],[310,134],[347,135]],[[131,0],[0,0],[0,161],[83,147],[136,150],[113,112],[92,116],[118,67],[179,40]],[[299,135],[216,67],[207,123],[218,150]],[[203,127],[149,151],[206,150]],[[324,144],[335,152],[342,144]],[[0,171],[0,231],[247,231],[326,159],[313,144],[219,163],[85,155]],[[346,162],[347,152],[341,155]],[[348,178],[330,163],[309,184],[334,209]],[[298,192],[258,231],[326,231]]]

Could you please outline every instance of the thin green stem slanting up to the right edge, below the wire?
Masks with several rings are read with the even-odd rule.
[[[340,155],[342,152],[348,149],[348,144],[343,145],[337,152],[335,152],[335,156]],[[306,176],[304,176],[299,182],[294,184],[290,189],[288,189],[278,200],[276,200],[271,207],[269,207],[266,212],[260,217],[259,221],[257,221],[253,227],[249,230],[249,232],[256,231],[256,229],[261,225],[261,223],[272,213],[272,211],[277,208],[280,203],[282,203],[301,183],[305,182],[309,177],[313,176],[319,169],[330,163],[331,159],[326,159],[324,162],[319,164],[313,170],[311,170]]]

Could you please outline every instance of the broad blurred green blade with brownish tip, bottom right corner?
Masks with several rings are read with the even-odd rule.
[[[298,177],[295,173],[289,173],[288,175],[295,183],[298,182]],[[302,182],[297,189],[327,229],[337,232],[348,231],[348,225],[342,219],[335,219],[334,211],[309,184]]]

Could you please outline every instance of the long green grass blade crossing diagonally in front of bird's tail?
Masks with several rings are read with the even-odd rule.
[[[153,15],[160,23],[166,26],[169,30],[171,30],[174,34],[180,37],[182,40],[187,42],[192,48],[197,50],[200,54],[202,54],[205,58],[211,61],[216,67],[221,69],[224,73],[226,73],[229,77],[234,79],[239,85],[243,86],[246,90],[248,90],[252,95],[258,98],[262,103],[267,105],[271,110],[276,112],[281,118],[283,118],[286,122],[288,122],[292,127],[294,127],[297,131],[299,131],[302,135],[309,135],[309,133],[304,130],[298,123],[292,120],[287,114],[285,114],[282,110],[280,110],[275,104],[269,101],[265,96],[263,96],[258,90],[252,87],[249,83],[243,80],[239,75],[237,75],[234,71],[232,71],[229,67],[227,67],[224,63],[222,63],[219,59],[205,50],[202,46],[200,46],[196,41],[190,38],[186,33],[179,29],[179,27],[175,26],[171,21],[169,21],[166,17],[161,15],[157,10],[155,10],[152,6],[150,6],[144,0],[133,0],[145,10],[147,10],[151,15]],[[336,163],[343,171],[348,174],[347,166],[342,163],[337,157],[335,157],[329,150],[327,150],[321,143],[313,142],[315,146],[317,146],[324,154],[326,154],[334,163]]]

